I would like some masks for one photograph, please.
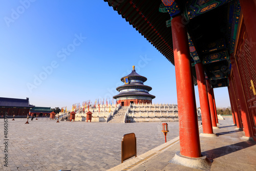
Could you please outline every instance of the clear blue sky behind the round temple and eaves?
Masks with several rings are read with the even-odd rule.
[[[0,18],[1,97],[71,109],[118,94],[135,65],[153,102],[177,103],[175,67],[103,0],[4,1]],[[214,91],[230,106],[227,88]]]

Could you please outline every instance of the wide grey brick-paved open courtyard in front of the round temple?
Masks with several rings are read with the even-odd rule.
[[[0,170],[106,170],[121,163],[121,140],[135,133],[137,155],[164,143],[161,122],[93,123],[8,119],[8,167],[4,166],[4,119],[0,119]],[[199,122],[201,124],[201,122]],[[167,140],[178,136],[168,122]],[[1,131],[2,130],[2,131]]]

